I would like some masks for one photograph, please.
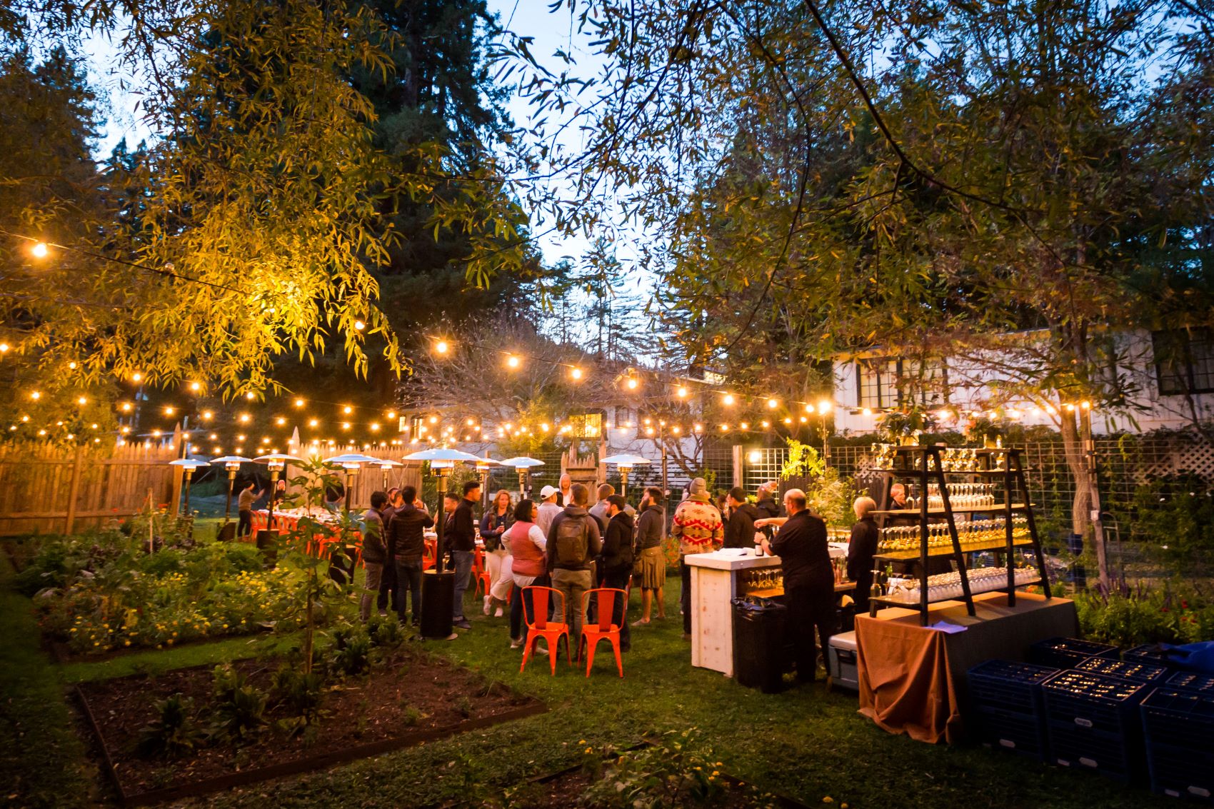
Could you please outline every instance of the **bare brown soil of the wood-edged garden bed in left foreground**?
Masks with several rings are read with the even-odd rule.
[[[270,690],[280,663],[283,658],[246,660],[233,669],[249,685]],[[267,726],[240,742],[205,743],[174,757],[140,753],[141,732],[159,715],[157,701],[180,694],[204,703],[212,688],[212,669],[205,666],[78,686],[124,803],[171,800],[317,770],[546,709],[448,661],[398,647],[370,673],[329,690],[322,713],[302,734],[279,730],[276,720],[288,719],[290,712],[268,705]]]

